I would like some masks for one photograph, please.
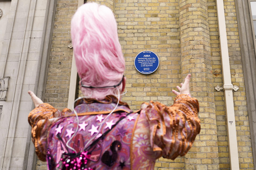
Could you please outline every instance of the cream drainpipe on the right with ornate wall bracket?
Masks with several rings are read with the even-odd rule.
[[[235,111],[233,103],[233,84],[231,83],[229,52],[227,47],[227,33],[224,15],[223,0],[216,0],[217,18],[219,28],[219,41],[221,50],[221,63],[223,75],[223,90],[225,96],[227,137],[229,143],[229,159],[230,169],[239,170],[238,149],[237,149],[237,133],[235,129]]]

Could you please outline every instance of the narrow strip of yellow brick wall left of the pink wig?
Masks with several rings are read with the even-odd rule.
[[[44,102],[58,109],[67,107],[73,49],[70,22],[77,10],[78,0],[57,1],[54,29],[49,56]]]

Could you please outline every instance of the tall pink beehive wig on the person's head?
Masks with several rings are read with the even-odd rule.
[[[71,37],[82,84],[105,87],[121,81],[125,61],[118,40],[117,23],[108,7],[97,3],[79,7],[71,21]],[[103,89],[81,87],[83,95],[96,99],[116,95],[121,89],[122,84]]]

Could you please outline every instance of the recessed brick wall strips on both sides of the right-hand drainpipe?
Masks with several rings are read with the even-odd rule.
[[[214,87],[223,85],[221,57],[219,49],[218,23],[216,14],[216,4],[214,0],[208,0],[209,28],[211,57],[214,77]],[[251,136],[249,130],[248,113],[246,106],[246,93],[244,76],[241,60],[241,49],[238,36],[238,25],[234,0],[224,0],[226,31],[228,39],[228,49],[230,57],[231,82],[239,87],[239,90],[233,92],[235,124],[237,130],[238,156],[240,169],[254,169],[253,156],[251,152]],[[217,134],[218,134],[218,152],[220,169],[229,169],[229,148],[227,141],[227,128],[225,116],[225,102],[223,91],[214,91]]]

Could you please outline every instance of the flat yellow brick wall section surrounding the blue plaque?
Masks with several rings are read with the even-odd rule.
[[[179,1],[159,2],[123,0],[115,4],[119,41],[126,61],[127,94],[123,100],[132,109],[139,109],[142,102],[149,100],[172,104],[171,89],[180,82]],[[144,75],[135,69],[134,58],[144,50],[159,57],[159,67],[153,74]]]

